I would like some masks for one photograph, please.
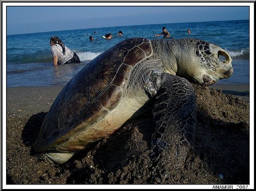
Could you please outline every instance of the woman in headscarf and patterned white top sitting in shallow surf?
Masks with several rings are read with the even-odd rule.
[[[81,63],[76,53],[67,48],[59,37],[51,37],[50,45],[54,66],[57,64]]]

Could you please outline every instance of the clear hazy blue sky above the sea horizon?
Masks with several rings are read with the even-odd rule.
[[[8,6],[7,35],[249,19],[246,6]]]

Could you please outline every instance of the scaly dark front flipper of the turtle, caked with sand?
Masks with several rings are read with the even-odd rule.
[[[162,73],[160,79],[153,109],[156,130],[151,140],[150,157],[156,160],[165,155],[180,163],[194,142],[195,93],[192,85],[182,77]]]

